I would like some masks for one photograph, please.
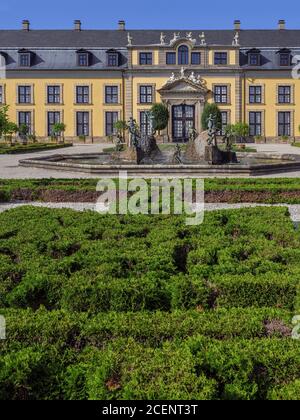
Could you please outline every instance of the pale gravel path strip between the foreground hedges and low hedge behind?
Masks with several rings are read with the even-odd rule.
[[[21,206],[45,207],[51,209],[72,209],[76,211],[92,210],[95,211],[95,204],[93,203],[41,203],[41,202],[27,202],[27,203],[0,203],[0,212],[14,209]],[[289,209],[291,219],[295,223],[300,223],[300,204],[256,204],[256,203],[205,203],[206,211],[225,210],[225,209],[242,209],[249,207],[287,207]]]

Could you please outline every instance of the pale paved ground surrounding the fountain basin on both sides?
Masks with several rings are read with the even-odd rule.
[[[286,144],[258,144],[250,145],[255,147],[258,152],[272,152],[272,153],[291,153],[300,154],[300,148],[292,147]],[[25,168],[19,166],[19,160],[29,159],[32,157],[42,157],[60,154],[89,154],[100,153],[103,148],[111,147],[111,144],[93,144],[93,145],[75,145],[66,149],[49,150],[44,152],[26,153],[18,155],[0,155],[0,178],[2,179],[39,179],[39,178],[99,178],[97,175],[90,175],[80,172],[61,172],[56,170],[47,170],[42,168]],[[288,172],[286,174],[266,175],[263,178],[295,178],[300,177],[300,171]]]

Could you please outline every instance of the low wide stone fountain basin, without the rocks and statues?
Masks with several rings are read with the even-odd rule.
[[[260,176],[283,172],[300,171],[300,156],[269,153],[238,153],[239,163],[209,165],[206,162],[169,164],[155,162],[137,165],[130,161],[112,161],[111,154],[52,155],[22,159],[20,166],[83,172],[99,177],[118,177],[127,171],[130,177],[205,177],[205,176]]]

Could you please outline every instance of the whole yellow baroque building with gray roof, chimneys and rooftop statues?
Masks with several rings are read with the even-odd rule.
[[[263,140],[300,135],[300,30],[0,31],[0,104],[39,138],[66,124],[69,140],[100,141],[117,120],[133,117],[149,130],[153,103],[170,111],[163,133],[186,141],[201,130],[205,103],[215,102],[223,126],[246,122]]]

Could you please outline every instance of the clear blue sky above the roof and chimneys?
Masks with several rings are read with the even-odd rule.
[[[279,19],[300,29],[299,0],[1,0],[0,28],[18,29],[29,19],[36,29],[114,29],[125,19],[129,29],[228,29],[234,19],[244,28],[272,29]]]

